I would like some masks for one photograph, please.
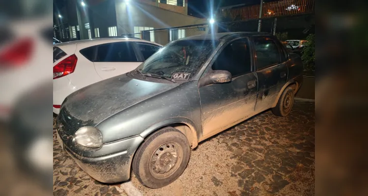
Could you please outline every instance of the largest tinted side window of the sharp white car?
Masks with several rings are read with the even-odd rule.
[[[138,62],[138,59],[131,43],[118,42],[98,46],[95,62]]]

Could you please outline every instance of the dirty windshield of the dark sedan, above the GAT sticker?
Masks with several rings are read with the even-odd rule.
[[[171,77],[173,73],[190,73],[191,78],[218,45],[218,40],[171,42],[144,61],[138,70],[163,77]]]

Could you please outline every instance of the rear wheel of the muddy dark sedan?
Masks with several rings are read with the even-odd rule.
[[[276,107],[272,108],[272,113],[280,117],[287,116],[290,113],[293,105],[294,105],[294,90],[290,86],[288,86],[285,88],[283,94],[280,96]]]

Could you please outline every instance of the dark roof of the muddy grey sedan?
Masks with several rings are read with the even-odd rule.
[[[270,35],[265,32],[226,32],[226,33],[213,33],[213,34],[202,34],[202,35],[194,35],[190,37],[186,37],[180,40],[207,40],[207,39],[224,39],[231,35],[238,36],[253,36],[253,35]]]

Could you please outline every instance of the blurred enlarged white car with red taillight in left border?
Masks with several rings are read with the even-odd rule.
[[[50,29],[52,21],[47,18],[1,21],[0,121],[6,122],[23,94],[50,79],[51,70],[47,69],[45,55],[51,53],[53,31]]]

